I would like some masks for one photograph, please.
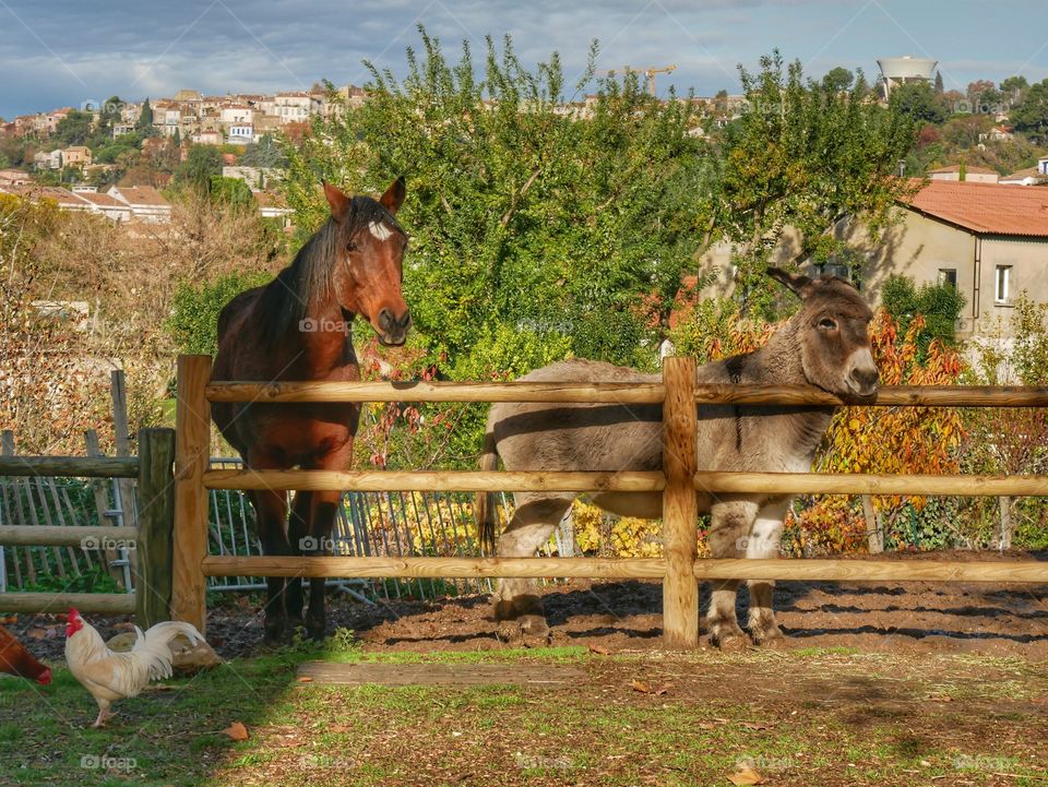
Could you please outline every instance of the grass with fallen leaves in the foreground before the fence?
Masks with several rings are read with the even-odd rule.
[[[314,659],[570,664],[588,677],[553,690],[298,683]],[[874,664],[884,678],[869,678]],[[1021,787],[1045,784],[1032,703],[1046,695],[1043,665],[972,657],[374,654],[342,635],[169,681],[120,702],[103,730],[64,669],[43,690],[0,680],[0,785],[690,786],[750,763],[775,785],[991,785],[1007,772]],[[248,740],[222,732],[234,720]]]

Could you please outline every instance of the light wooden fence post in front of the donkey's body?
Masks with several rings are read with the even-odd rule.
[[[667,357],[663,361],[663,549],[666,580],[663,583],[663,640],[666,647],[699,646],[699,505],[694,475],[695,361]]]

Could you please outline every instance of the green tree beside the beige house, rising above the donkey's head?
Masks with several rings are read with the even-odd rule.
[[[764,270],[784,231],[799,232],[794,264],[842,254],[844,219],[876,237],[910,188],[895,172],[916,130],[867,100],[861,74],[850,91],[827,92],[778,52],[759,73],[740,72],[747,106],[720,140],[716,226],[735,245],[737,300],[772,318],[779,293]]]

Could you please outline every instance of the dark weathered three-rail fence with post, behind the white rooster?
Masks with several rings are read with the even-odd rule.
[[[80,547],[111,551],[111,545],[135,552],[134,593],[0,593],[9,612],[134,613],[143,628],[169,618],[171,549],[175,521],[175,432],[143,429],[138,456],[0,456],[0,476],[138,479],[136,526],[0,525],[2,546]],[[131,485],[124,488],[130,490]],[[129,496],[130,498],[130,496]],[[128,501],[126,501],[128,502]]]

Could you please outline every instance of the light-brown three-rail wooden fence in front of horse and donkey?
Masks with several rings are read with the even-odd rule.
[[[210,382],[211,358],[178,359],[176,532],[171,613],[204,623],[207,576],[652,577],[664,583],[669,647],[699,641],[703,579],[1048,582],[1048,564],[953,561],[698,560],[695,490],[711,492],[1048,496],[1048,476],[878,476],[696,472],[696,404],[842,405],[806,386],[698,385],[695,365],[667,358],[662,383]],[[212,402],[585,402],[663,405],[655,473],[209,470]],[[1048,387],[886,387],[873,406],[1044,407]],[[361,491],[660,491],[664,557],[356,558],[209,556],[209,489]]]

